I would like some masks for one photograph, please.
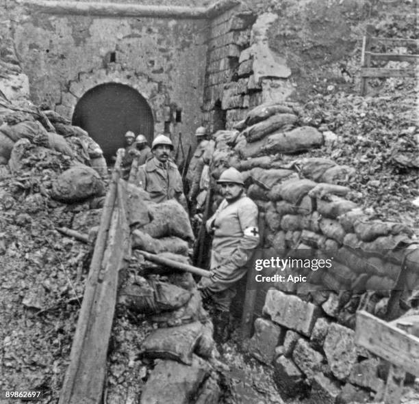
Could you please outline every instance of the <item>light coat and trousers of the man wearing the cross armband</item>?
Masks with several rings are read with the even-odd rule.
[[[244,194],[233,202],[223,200],[207,220],[214,229],[211,253],[211,278],[202,278],[199,288],[211,297],[216,309],[228,311],[236,295],[236,284],[247,271],[246,264],[259,243],[257,206]]]

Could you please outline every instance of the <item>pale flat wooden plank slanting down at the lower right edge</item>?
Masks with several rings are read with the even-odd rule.
[[[361,310],[357,312],[355,342],[374,355],[419,377],[418,337]]]

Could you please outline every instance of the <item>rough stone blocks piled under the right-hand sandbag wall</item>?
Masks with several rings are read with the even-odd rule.
[[[334,323],[319,306],[270,289],[255,321],[249,351],[275,368],[284,396],[309,394],[313,403],[364,403],[379,399],[380,362],[355,345],[355,332]]]

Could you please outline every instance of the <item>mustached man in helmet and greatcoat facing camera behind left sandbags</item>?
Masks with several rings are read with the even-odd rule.
[[[177,165],[170,160],[172,141],[167,136],[158,135],[153,140],[151,152],[153,158],[138,167],[138,185],[150,194],[154,202],[175,199],[188,211],[181,175]]]

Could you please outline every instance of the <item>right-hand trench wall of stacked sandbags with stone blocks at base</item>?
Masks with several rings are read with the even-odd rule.
[[[396,287],[403,290],[396,315],[409,308],[411,291],[419,288],[419,243],[403,224],[370,220],[351,201],[352,167],[299,156],[329,142],[299,122],[297,105],[260,105],[238,130],[214,134],[213,183],[226,167],[240,170],[264,215],[263,258],[290,260],[285,267],[268,261],[262,271],[250,269],[270,278],[259,283],[266,298],[256,308],[263,314],[249,351],[275,365],[284,394],[311,389],[316,403],[320,397],[362,401],[381,394],[383,379],[380,362],[355,346],[355,312],[387,318]],[[402,267],[405,282],[396,286]]]

